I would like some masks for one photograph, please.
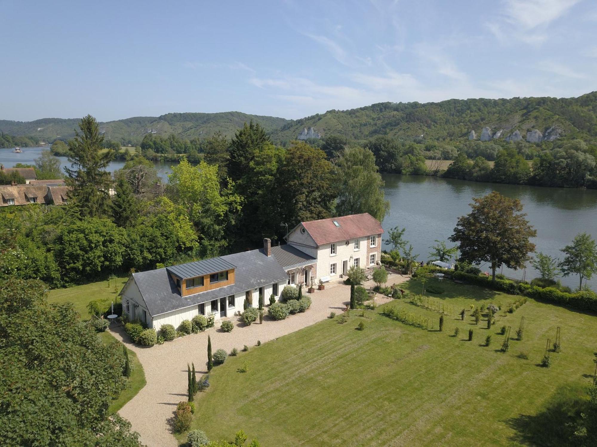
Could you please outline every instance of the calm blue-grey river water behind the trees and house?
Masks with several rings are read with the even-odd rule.
[[[34,163],[45,148],[23,148],[15,154],[11,149],[0,149],[0,163],[12,167],[16,163]],[[68,163],[66,157],[59,157],[62,166]],[[158,175],[167,180],[170,166],[176,163],[155,163]],[[110,163],[110,172],[121,169],[124,162]],[[434,240],[447,240],[453,232],[458,217],[470,211],[472,197],[480,197],[491,191],[498,191],[507,197],[518,198],[524,205],[524,212],[537,229],[533,242],[538,252],[561,257],[559,251],[570,243],[578,232],[587,232],[597,237],[597,191],[565,188],[541,188],[522,185],[500,185],[493,183],[467,182],[424,176],[385,174],[385,193],[390,201],[389,215],[383,221],[387,231],[393,226],[406,228],[405,238],[413,244],[419,260],[429,259],[429,246]],[[388,248],[387,246],[385,246]],[[484,271],[487,265],[482,266]],[[529,265],[526,271],[510,271],[504,274],[512,278],[523,275],[530,280],[537,276]],[[562,278],[562,283],[574,288],[576,277]],[[589,281],[597,289],[597,278]]]

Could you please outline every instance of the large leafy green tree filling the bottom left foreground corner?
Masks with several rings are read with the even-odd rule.
[[[48,305],[37,280],[0,284],[2,445],[138,447],[108,406],[125,387],[118,343],[106,345],[70,304]]]

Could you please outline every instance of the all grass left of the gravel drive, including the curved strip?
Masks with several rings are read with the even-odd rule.
[[[117,294],[119,291],[121,291],[122,286],[127,282],[127,280],[128,276],[110,280],[110,287],[107,287],[108,281],[99,281],[97,283],[75,285],[74,287],[50,290],[48,302],[73,303],[76,311],[79,312],[79,315],[81,315],[81,318],[88,319],[89,313],[87,312],[87,303],[96,299],[106,299],[107,305],[110,304],[110,301],[116,303],[116,300],[118,299]],[[114,290],[115,285],[118,291]],[[99,336],[106,344],[117,341],[109,332],[99,333]],[[141,362],[139,362],[139,359],[137,359],[136,353],[128,349],[128,358],[133,366],[133,371],[131,372],[131,377],[128,379],[127,388],[120,393],[117,399],[110,403],[108,409],[110,414],[121,409],[122,406],[133,399],[139,390],[146,384],[143,366],[141,366]]]

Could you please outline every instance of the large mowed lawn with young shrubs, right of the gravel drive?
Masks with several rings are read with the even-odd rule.
[[[414,281],[403,287],[420,291]],[[500,311],[487,330],[485,318],[475,325],[467,312],[460,321],[459,311],[506,306],[515,296],[451,282],[440,287],[445,293],[434,299],[450,314],[443,332],[439,312],[395,300],[388,305],[429,316],[435,329],[393,321],[380,308],[365,317],[352,311],[345,324],[337,316],[227,358],[195,398],[192,429],[210,439],[242,429],[261,445],[548,445],[559,415],[546,407],[556,395],[583,396],[592,380],[597,317],[528,300],[515,313]],[[515,337],[522,316],[523,340],[497,352],[501,325],[511,325]],[[360,321],[364,331],[355,329]],[[562,352],[542,368],[558,326]],[[469,328],[473,342],[466,341]],[[482,346],[488,334],[491,346]],[[237,372],[245,362],[248,372]]]

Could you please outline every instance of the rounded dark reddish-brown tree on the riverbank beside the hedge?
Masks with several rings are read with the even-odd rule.
[[[492,279],[496,269],[506,265],[511,269],[524,266],[535,244],[529,240],[537,235],[521,213],[519,200],[493,191],[485,197],[473,197],[472,212],[458,219],[452,242],[458,243],[460,259],[469,262],[489,262]]]

